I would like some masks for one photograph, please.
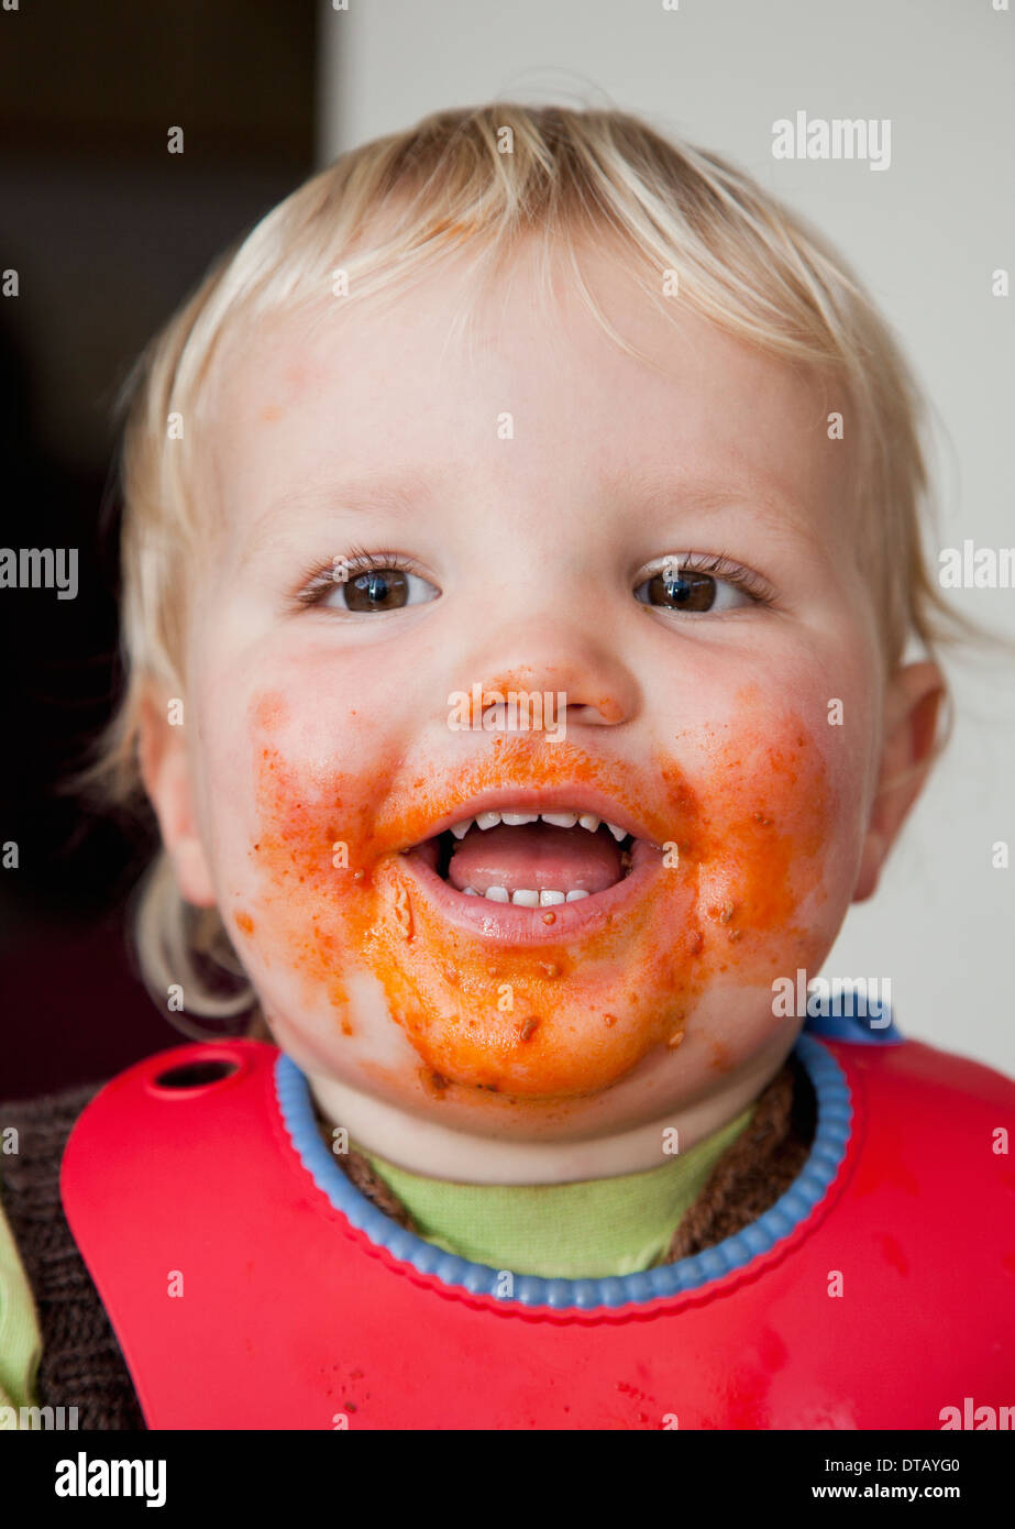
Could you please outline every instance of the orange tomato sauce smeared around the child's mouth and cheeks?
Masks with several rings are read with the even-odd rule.
[[[712,732],[708,775],[694,786],[674,757],[656,754],[634,783],[570,742],[518,735],[486,735],[483,755],[448,784],[446,768],[407,775],[400,760],[390,777],[376,761],[362,774],[292,763],[280,700],[266,694],[251,708],[258,939],[300,976],[307,1003],[324,997],[336,1035],[355,1035],[359,1023],[350,972],[370,972],[437,1098],[448,1089],[532,1101],[596,1093],[651,1047],[679,1047],[712,986],[769,986],[815,956],[801,910],[822,896],[832,790],[790,711],[747,722],[735,739]],[[399,850],[457,801],[488,787],[581,783],[607,792],[657,844],[677,846],[677,864],[660,864],[601,928],[491,948],[420,896]],[[550,927],[550,913],[532,917]]]

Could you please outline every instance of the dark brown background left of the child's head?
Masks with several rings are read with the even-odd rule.
[[[78,547],[78,598],[0,590],[0,1098],[107,1078],[180,1040],[133,971],[151,829],[61,795],[110,714],[112,405],[212,257],[313,168],[313,0],[0,11],[5,547]],[[168,130],[185,151],[170,154]]]

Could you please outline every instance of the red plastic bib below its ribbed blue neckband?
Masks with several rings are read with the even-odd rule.
[[[145,1058],[78,1119],[67,1220],[151,1428],[940,1428],[1015,1401],[1015,1084],[821,1044],[853,1105],[824,1199],[744,1268],[616,1310],[469,1295],[318,1190],[274,1046]],[[229,1060],[223,1081],[168,1069]]]

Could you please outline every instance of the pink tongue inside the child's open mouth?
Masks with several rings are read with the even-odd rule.
[[[469,829],[456,846],[448,881],[462,891],[605,891],[621,879],[621,846],[608,829],[555,829],[524,823]]]

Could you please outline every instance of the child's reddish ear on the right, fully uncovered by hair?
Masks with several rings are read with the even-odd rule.
[[[880,868],[934,760],[937,714],[945,680],[937,664],[906,664],[885,694],[885,739],[877,794],[871,803],[853,902],[877,887]]]

